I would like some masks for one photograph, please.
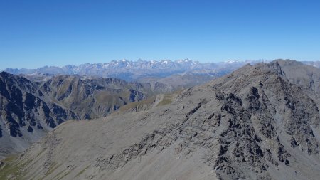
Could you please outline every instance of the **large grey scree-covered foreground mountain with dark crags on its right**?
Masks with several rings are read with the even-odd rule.
[[[6,159],[0,178],[318,179],[320,103],[305,83],[316,82],[309,68],[246,65],[149,110],[65,122]]]

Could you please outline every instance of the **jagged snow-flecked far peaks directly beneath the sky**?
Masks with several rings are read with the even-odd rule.
[[[186,72],[186,71],[199,71],[205,72],[206,70],[219,70],[228,69],[234,70],[240,68],[247,63],[255,64],[260,62],[269,62],[270,60],[228,60],[225,62],[216,63],[200,63],[188,58],[181,60],[142,60],[131,61],[126,59],[112,60],[107,63],[84,63],[81,65],[65,65],[63,67],[45,66],[35,70],[11,70],[15,74],[41,72],[51,74],[79,74],[79,75],[98,75],[108,77],[109,75],[141,75],[156,73],[169,73],[169,72]],[[314,65],[314,64],[313,64]],[[212,71],[210,71],[212,72]],[[118,77],[118,76],[117,76]],[[119,76],[122,78],[122,76]]]

